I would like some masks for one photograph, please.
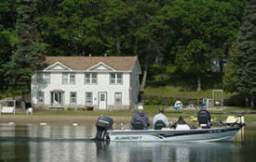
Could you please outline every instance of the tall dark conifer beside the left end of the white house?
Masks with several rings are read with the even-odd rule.
[[[15,24],[18,42],[11,60],[5,67],[5,79],[12,88],[20,88],[24,94],[30,87],[34,71],[43,67],[44,44],[39,43],[40,35],[34,23],[35,0],[19,0],[18,3]]]

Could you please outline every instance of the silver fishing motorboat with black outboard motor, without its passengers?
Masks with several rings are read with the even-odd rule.
[[[113,130],[113,119],[100,116],[97,120],[97,140],[111,142],[216,142],[231,141],[242,124],[216,128],[190,128],[178,124],[175,128],[161,130]]]

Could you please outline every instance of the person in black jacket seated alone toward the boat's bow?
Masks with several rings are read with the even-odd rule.
[[[197,112],[198,125],[202,125],[203,128],[210,128],[210,114],[207,110],[207,105],[203,105],[201,110]]]

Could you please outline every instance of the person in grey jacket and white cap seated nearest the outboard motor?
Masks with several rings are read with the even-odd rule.
[[[149,118],[143,112],[143,106],[138,106],[138,112],[130,120],[131,130],[148,130]]]

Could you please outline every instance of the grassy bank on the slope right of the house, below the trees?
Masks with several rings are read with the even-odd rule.
[[[162,87],[152,87],[148,86],[144,93],[146,95],[154,96],[167,96],[167,97],[182,97],[182,98],[212,98],[212,90],[202,90],[201,92],[196,91],[185,91],[182,87],[177,86],[162,86]],[[237,93],[225,93],[223,92],[223,99],[230,98]]]

